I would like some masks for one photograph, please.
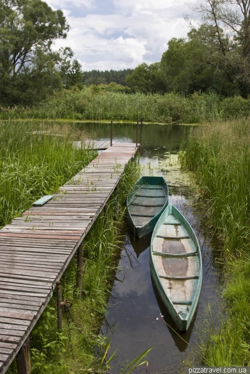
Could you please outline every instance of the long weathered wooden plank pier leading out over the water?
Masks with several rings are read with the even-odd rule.
[[[56,281],[118,185],[124,166],[137,152],[136,145],[113,143],[53,199],[30,208],[0,230],[1,374],[18,351],[17,364],[25,364],[21,360],[32,328]]]

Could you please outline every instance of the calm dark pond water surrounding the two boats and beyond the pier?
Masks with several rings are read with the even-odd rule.
[[[96,140],[109,138],[109,124],[85,123],[80,126],[95,133]],[[144,174],[148,173],[150,163],[150,172],[164,176],[168,182],[169,171],[162,165],[169,159],[170,151],[179,150],[181,137],[185,137],[189,129],[190,127],[183,125],[143,125],[140,162],[146,165]],[[135,142],[135,125],[113,124],[113,139]],[[199,212],[194,211],[194,196],[190,187],[185,186],[185,183],[170,187],[169,201],[192,225],[202,252],[203,283],[198,308],[188,332],[178,332],[186,342],[195,347],[195,342],[199,341],[197,329],[204,331],[204,319],[209,319],[208,303],[211,304],[213,315],[218,315],[219,297],[216,286],[219,283],[219,271],[214,265],[216,252],[200,223]],[[114,280],[101,329],[104,335],[113,335],[109,354],[117,349],[117,358],[111,363],[111,374],[119,373],[126,363],[152,346],[154,348],[146,357],[148,374],[177,373],[191,350],[175,334],[175,326],[152,283],[149,268],[150,238],[151,234],[138,240],[124,227],[120,270]],[[215,246],[216,243],[213,243],[213,247]],[[160,313],[174,331],[159,318]],[[145,372],[145,365],[136,370],[139,373]]]

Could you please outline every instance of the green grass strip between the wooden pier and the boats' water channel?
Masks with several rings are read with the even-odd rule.
[[[104,373],[111,365],[108,363],[110,340],[98,334],[123,241],[121,228],[125,197],[139,175],[140,168],[137,162],[129,162],[119,182],[119,208],[116,220],[113,220],[117,212],[114,192],[108,201],[107,225],[105,226],[102,211],[83,241],[83,256],[87,261],[82,277],[81,300],[77,299],[76,256],[61,278],[62,299],[72,301],[71,313],[81,333],[71,321],[68,330],[63,312],[62,333],[58,334],[54,293],[31,334],[32,374]],[[68,332],[72,344],[68,339]],[[16,374],[15,362],[11,364],[7,373]],[[125,373],[129,373],[129,369]]]

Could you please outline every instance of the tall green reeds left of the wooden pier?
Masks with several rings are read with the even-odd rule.
[[[73,145],[81,136],[66,124],[0,121],[0,226],[96,157],[96,151]]]

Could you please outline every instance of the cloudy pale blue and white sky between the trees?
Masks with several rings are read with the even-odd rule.
[[[172,37],[188,31],[183,14],[193,0],[46,0],[62,9],[70,25],[67,38],[83,70],[133,68],[159,61]]]

